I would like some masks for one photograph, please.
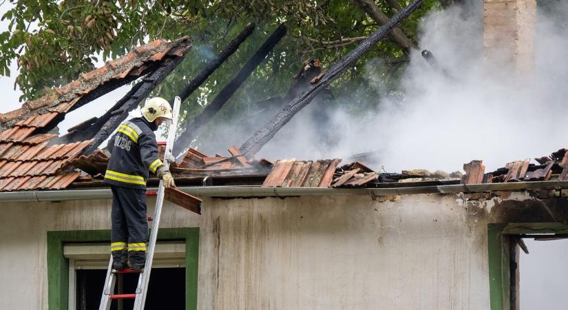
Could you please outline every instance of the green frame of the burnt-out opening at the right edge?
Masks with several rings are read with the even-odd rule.
[[[487,225],[491,310],[511,309],[510,249],[518,234],[568,234],[562,223],[496,223]]]

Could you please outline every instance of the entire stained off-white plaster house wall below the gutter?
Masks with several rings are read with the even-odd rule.
[[[489,309],[493,200],[377,199],[207,198],[202,216],[166,205],[161,227],[200,227],[200,310]],[[109,229],[109,210],[108,200],[0,205],[0,309],[46,309],[47,231]]]

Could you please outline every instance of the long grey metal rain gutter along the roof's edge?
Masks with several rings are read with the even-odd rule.
[[[412,194],[457,194],[511,192],[534,189],[568,189],[568,181],[535,181],[472,185],[438,185],[399,188],[328,188],[328,187],[261,187],[206,186],[178,187],[199,197],[288,197],[288,196],[395,196]],[[155,190],[155,189],[149,189]],[[110,199],[110,189],[64,189],[58,191],[2,192],[0,203],[62,200]]]

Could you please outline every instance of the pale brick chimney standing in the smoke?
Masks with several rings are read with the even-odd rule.
[[[493,65],[510,64],[519,72],[532,72],[536,0],[484,1],[486,61]]]

